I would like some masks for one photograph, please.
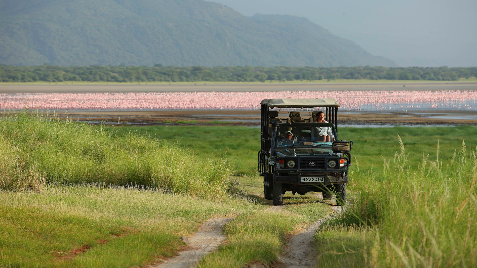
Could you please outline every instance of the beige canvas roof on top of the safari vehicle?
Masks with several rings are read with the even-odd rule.
[[[262,105],[270,108],[313,108],[313,107],[340,107],[335,99],[265,99]]]

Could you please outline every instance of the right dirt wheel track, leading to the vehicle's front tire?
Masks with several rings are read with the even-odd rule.
[[[314,267],[317,264],[317,252],[313,245],[313,237],[316,230],[333,215],[340,214],[342,206],[331,206],[333,213],[315,221],[310,227],[302,232],[293,235],[283,248],[284,253],[279,256],[279,262],[274,265],[276,268],[301,268]]]

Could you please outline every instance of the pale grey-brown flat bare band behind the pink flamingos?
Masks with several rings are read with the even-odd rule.
[[[477,82],[409,83],[237,83],[237,84],[0,84],[0,93],[112,93],[112,92],[266,92],[352,90],[477,90]]]

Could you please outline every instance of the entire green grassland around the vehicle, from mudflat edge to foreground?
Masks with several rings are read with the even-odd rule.
[[[144,265],[172,256],[184,246],[179,237],[191,234],[214,215],[236,215],[236,219],[226,225],[229,242],[204,258],[200,267],[270,263],[281,252],[283,236],[329,213],[329,207],[313,195],[287,194],[287,206],[268,209],[270,201],[259,197],[263,185],[255,171],[259,128],[104,129],[25,116],[2,121],[0,128],[0,267]],[[474,148],[476,130],[473,126],[340,128],[340,139],[355,141],[348,186],[354,205],[317,233],[320,265],[475,266],[477,162],[472,150],[467,147],[464,152],[461,143],[464,139]],[[240,185],[231,187],[227,178],[210,170],[207,174],[217,182],[209,180],[207,187],[220,186],[216,195],[188,184],[175,188],[147,183],[145,178],[150,179],[156,169],[180,177],[194,174],[180,173],[181,165],[170,164],[177,154],[177,159],[192,161],[189,167],[195,169],[231,170]],[[161,159],[169,159],[173,168],[157,162]],[[383,165],[384,159],[388,165]],[[108,178],[113,168],[129,179],[119,175],[114,180],[100,179]],[[25,184],[25,178],[41,183]]]

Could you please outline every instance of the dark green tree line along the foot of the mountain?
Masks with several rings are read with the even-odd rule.
[[[385,79],[456,81],[477,77],[477,67],[177,67],[0,65],[1,82],[265,82]]]

